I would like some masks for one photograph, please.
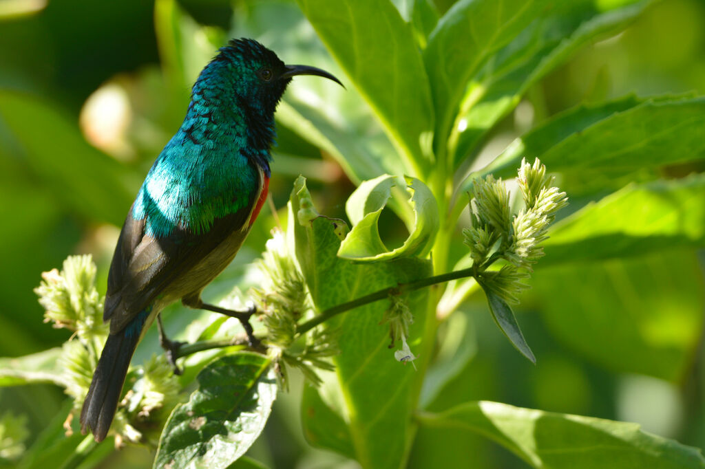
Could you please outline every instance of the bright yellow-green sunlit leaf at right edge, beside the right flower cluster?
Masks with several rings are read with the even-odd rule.
[[[705,246],[705,175],[628,185],[560,220],[544,246],[542,266]]]

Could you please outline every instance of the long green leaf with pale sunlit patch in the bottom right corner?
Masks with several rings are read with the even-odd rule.
[[[697,448],[615,422],[520,408],[498,402],[468,402],[441,413],[418,415],[424,427],[462,428],[494,440],[534,468],[703,468]]]

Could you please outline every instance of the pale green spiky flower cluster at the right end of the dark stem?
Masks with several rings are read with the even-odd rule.
[[[469,194],[472,226],[463,230],[477,280],[510,303],[517,303],[517,294],[527,288],[522,280],[544,255],[541,242],[548,238],[556,212],[568,204],[565,192],[553,186],[553,177],[546,175],[546,166],[538,159],[533,165],[522,160],[517,182],[525,206],[513,215],[501,179],[489,175],[476,181]],[[508,263],[486,270],[499,259]]]

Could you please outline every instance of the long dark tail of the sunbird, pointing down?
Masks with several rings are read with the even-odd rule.
[[[121,332],[109,334],[103,347],[88,394],[83,401],[80,419],[81,433],[86,434],[90,428],[97,442],[103,441],[113,422],[147,313],[143,311],[138,314]]]

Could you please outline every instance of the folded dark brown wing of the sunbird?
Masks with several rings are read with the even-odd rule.
[[[217,218],[210,230],[200,234],[176,228],[168,237],[147,235],[145,220],[135,220],[130,208],[108,274],[103,319],[110,320],[111,333],[123,330],[137,313],[168,293],[178,275],[187,273],[233,232],[241,231],[244,239],[261,193],[262,190],[252,194],[245,207]],[[195,284],[198,285],[197,279]],[[190,292],[180,292],[187,293]]]

